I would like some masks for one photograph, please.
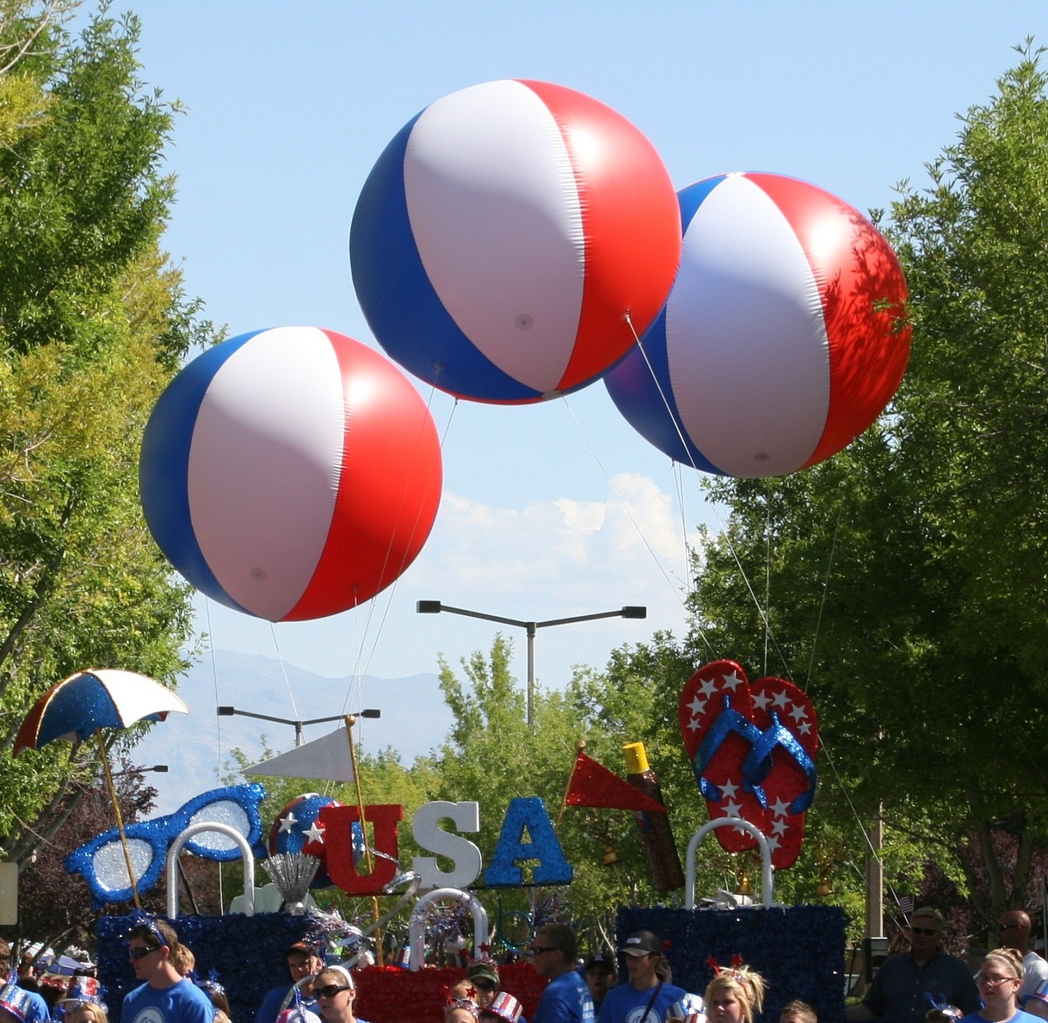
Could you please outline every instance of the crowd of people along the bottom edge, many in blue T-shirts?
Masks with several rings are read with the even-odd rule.
[[[943,919],[931,908],[913,913],[910,950],[890,957],[848,1023],[1038,1023],[1048,1020],[1048,962],[1031,949],[1031,921],[1009,910],[998,927],[1002,946],[973,976],[964,960],[940,942]],[[658,935],[629,935],[616,955],[578,958],[575,932],[564,923],[539,928],[528,949],[546,978],[531,1023],[754,1023],[764,1005],[765,981],[740,961],[721,967],[699,995],[673,983]],[[124,998],[122,1023],[232,1023],[217,978],[195,974],[193,952],[166,920],[144,918],[128,936],[128,959],[138,986]],[[354,1013],[356,985],[344,965],[325,964],[321,951],[297,941],[286,952],[288,982],[269,991],[253,1023],[366,1023]],[[618,982],[618,962],[625,979]],[[31,977],[10,972],[10,950],[0,939],[0,1023],[109,1023],[97,981],[74,976],[58,996],[28,989]],[[503,991],[496,963],[470,965],[446,992],[444,1023],[528,1023],[520,1000]],[[815,1010],[789,1001],[779,1023],[818,1023]]]

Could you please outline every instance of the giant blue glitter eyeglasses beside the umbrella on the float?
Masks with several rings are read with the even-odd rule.
[[[260,806],[263,799],[265,788],[257,782],[215,788],[194,796],[174,813],[127,825],[124,833],[127,835],[131,862],[135,868],[138,894],[148,892],[159,880],[171,843],[191,824],[218,820],[219,812],[227,818],[232,817],[233,820],[225,820],[223,823],[233,824],[256,850],[256,855],[264,855],[265,850],[260,845]],[[240,849],[233,840],[218,832],[204,831],[196,834],[185,843],[184,848],[204,859],[222,862],[240,858]],[[127,877],[121,836],[115,828],[74,849],[66,856],[65,868],[70,874],[83,875],[91,889],[95,908],[101,908],[106,902],[124,902],[132,897],[130,883],[124,888],[112,888],[102,876],[116,873]]]

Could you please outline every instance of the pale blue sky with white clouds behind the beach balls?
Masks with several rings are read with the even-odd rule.
[[[1048,41],[1043,0],[992,9],[964,0],[141,0],[133,9],[144,80],[187,108],[168,154],[178,202],[165,243],[190,292],[233,334],[301,323],[368,344],[349,276],[353,206],[389,139],[447,92],[499,78],[556,82],[629,117],[677,188],[774,171],[867,210],[888,205],[897,181],[923,180],[923,164],[956,134],[956,113],[985,101],[1017,59],[1013,44]],[[737,401],[744,410],[745,395]],[[442,432],[453,402],[437,394],[432,408]],[[332,619],[277,626],[287,660],[326,676],[359,665],[392,678],[435,670],[438,651],[455,662],[490,644],[494,627],[418,616],[419,598],[533,619],[649,606],[648,622],[541,633],[547,685],[563,684],[572,663],[603,665],[618,643],[683,631],[683,532],[716,518],[692,472],[679,481],[681,508],[668,459],[603,386],[567,406],[462,402],[444,472],[433,535],[395,591]],[[217,647],[276,656],[267,623],[216,605],[210,615]],[[363,698],[381,702],[380,693]],[[284,712],[290,702],[270,709]]]

